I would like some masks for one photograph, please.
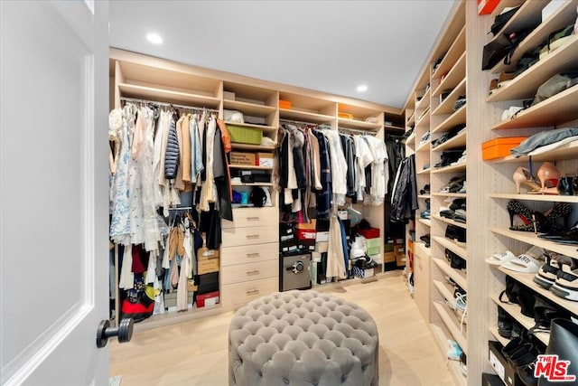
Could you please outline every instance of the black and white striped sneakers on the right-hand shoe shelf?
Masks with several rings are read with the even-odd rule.
[[[568,256],[549,252],[539,268],[534,282],[550,289],[558,297],[578,301],[578,264]]]

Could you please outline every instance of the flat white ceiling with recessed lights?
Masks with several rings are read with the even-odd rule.
[[[453,4],[112,1],[110,45],[402,108]]]

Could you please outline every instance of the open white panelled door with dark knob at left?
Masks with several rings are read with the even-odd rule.
[[[108,5],[0,14],[0,383],[105,385]]]

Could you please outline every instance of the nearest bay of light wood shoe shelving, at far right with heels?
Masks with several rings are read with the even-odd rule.
[[[541,23],[520,43],[512,57],[511,65],[507,66],[503,62],[499,62],[491,70],[484,71],[488,72],[486,75],[489,76],[489,79],[498,78],[502,71],[515,70],[515,64],[524,52],[532,50],[544,42],[550,33],[576,21],[578,1],[560,2],[560,6],[543,20],[542,10],[547,3],[534,1],[520,3],[519,10],[504,26],[502,32],[514,27],[523,27],[531,20],[537,19]],[[486,40],[489,42],[489,36]],[[484,137],[529,137],[543,130],[576,127],[578,124],[578,87],[575,85],[550,99],[523,110],[515,118],[502,120],[501,113],[510,106],[521,106],[521,100],[533,99],[536,95],[536,89],[553,75],[570,69],[577,69],[577,49],[578,40],[572,39],[554,52],[540,57],[536,64],[511,80],[508,85],[494,90],[482,105],[482,111],[485,112],[484,115],[487,119],[483,127],[486,133]],[[530,247],[537,246],[578,259],[577,245],[564,245],[540,239],[534,231],[509,230],[510,220],[507,205],[510,200],[517,200],[527,208],[539,212],[546,212],[555,204],[565,202],[573,208],[571,214],[566,218],[565,225],[570,226],[578,220],[578,195],[530,194],[527,191],[531,189],[528,189],[527,186],[522,186],[521,193],[517,193],[517,186],[512,178],[517,167],[521,166],[531,170],[536,182],[540,184],[537,174],[546,162],[554,164],[561,176],[576,175],[578,173],[578,146],[571,143],[543,155],[534,155],[531,158],[528,156],[519,158],[505,156],[483,162],[481,165],[482,173],[489,176],[489,199],[486,205],[486,210],[490,214],[489,237],[486,242],[486,248],[489,250],[485,251],[486,256],[505,250],[519,255]],[[508,343],[508,339],[503,338],[498,333],[498,306],[503,308],[519,325],[525,328],[531,328],[535,325],[533,318],[521,314],[519,306],[505,305],[499,301],[499,292],[505,287],[506,276],[514,278],[555,306],[564,308],[573,315],[578,315],[578,302],[558,297],[550,290],[540,287],[533,281],[534,273],[520,273],[503,267],[486,265],[484,276],[488,293],[485,295],[485,300],[481,297],[476,297],[475,300],[476,302],[480,301],[480,306],[482,301],[485,301],[484,307],[488,312],[485,314],[485,321],[483,321],[487,325],[484,334],[489,335],[489,340],[499,341],[501,344]],[[549,338],[548,333],[536,334],[536,339],[544,345],[548,344]]]

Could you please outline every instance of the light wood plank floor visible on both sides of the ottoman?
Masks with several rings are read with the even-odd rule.
[[[316,288],[317,289],[317,288]],[[453,385],[401,271],[327,291],[357,303],[379,331],[379,385]],[[228,384],[228,323],[233,312],[138,331],[128,344],[110,344],[110,375],[121,386]]]

